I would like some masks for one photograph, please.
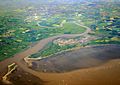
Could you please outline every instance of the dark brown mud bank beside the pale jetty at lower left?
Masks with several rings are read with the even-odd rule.
[[[36,76],[23,71],[20,67],[8,76],[8,80],[11,84],[5,84],[0,81],[0,85],[44,85],[43,83],[45,82]]]

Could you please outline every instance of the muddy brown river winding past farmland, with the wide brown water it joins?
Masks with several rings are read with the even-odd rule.
[[[33,47],[27,49],[26,51],[14,55],[13,58],[9,58],[0,62],[0,81],[2,76],[7,72],[7,66],[15,62],[19,66],[19,68],[23,71],[23,72],[21,71],[23,75],[24,73],[29,73],[33,77],[39,78],[39,81],[41,80],[45,81],[44,84],[42,85],[120,85],[120,59],[115,59],[115,60],[111,59],[110,61],[97,67],[77,69],[65,73],[46,73],[46,72],[35,71],[28,68],[28,66],[23,61],[25,57],[29,56],[30,54],[38,52],[48,42],[52,41],[55,38],[58,37],[71,38],[81,35],[87,36],[87,33],[90,32],[90,28],[86,26],[83,27],[85,27],[87,30],[82,34],[74,34],[74,35],[64,34],[60,36],[54,36],[43,39]],[[112,45],[112,46],[118,46],[118,45]],[[14,76],[14,74],[12,75]],[[19,73],[17,75],[19,75]],[[14,77],[17,77],[17,75],[15,75]],[[23,76],[21,80],[22,79],[23,79],[23,82],[21,82],[22,85],[30,85],[30,84],[36,85],[34,83],[25,84],[26,81],[24,81],[24,79],[27,79],[26,75]],[[35,78],[33,78],[33,80],[35,80]]]

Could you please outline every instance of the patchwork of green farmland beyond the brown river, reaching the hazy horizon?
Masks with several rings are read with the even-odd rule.
[[[0,3],[0,61],[24,51],[44,38],[85,32],[86,29],[79,24],[91,28],[89,36],[97,38],[88,44],[120,43],[119,4],[116,2],[46,5],[48,10],[39,4],[24,3],[21,6],[12,1],[9,3],[13,5],[4,6]],[[51,50],[54,50],[51,53],[57,51],[55,47]]]

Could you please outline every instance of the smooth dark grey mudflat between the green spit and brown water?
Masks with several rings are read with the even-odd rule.
[[[120,58],[120,45],[93,46],[63,52],[34,61],[32,69],[40,72],[63,73],[102,65]]]

